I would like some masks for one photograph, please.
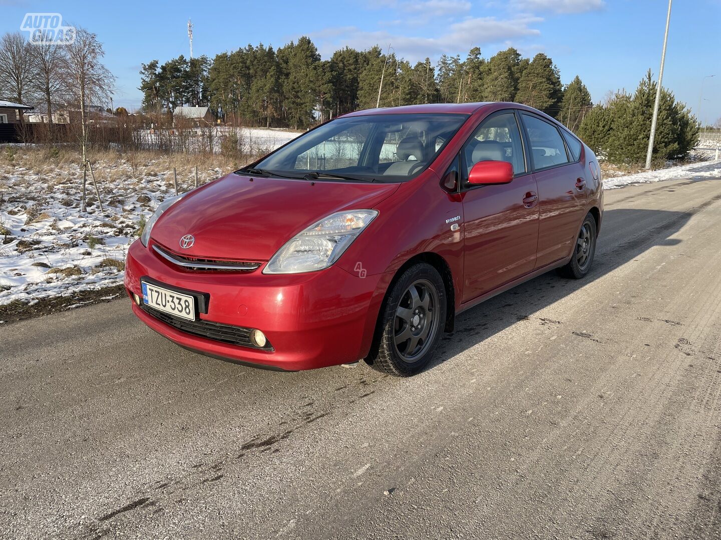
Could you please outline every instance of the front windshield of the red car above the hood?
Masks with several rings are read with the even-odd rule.
[[[253,170],[298,178],[406,181],[424,171],[467,114],[338,118],[276,150]]]

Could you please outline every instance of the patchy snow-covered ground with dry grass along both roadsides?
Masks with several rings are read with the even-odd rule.
[[[275,148],[298,135],[280,130],[248,130],[249,138]],[[0,145],[0,152],[6,148]],[[19,155],[23,148],[14,148]],[[25,150],[27,152],[27,150]],[[721,176],[721,161],[698,161],[658,171],[610,177],[605,189],[671,179]],[[19,163],[19,164],[18,164]],[[166,168],[164,168],[164,166]],[[226,171],[207,168],[200,181]],[[18,301],[32,304],[48,297],[112,287],[123,282],[123,261],[137,238],[141,218],[173,194],[167,163],[123,160],[96,166],[105,211],[94,204],[89,184],[87,212],[81,212],[81,168],[73,163],[22,166],[0,161],[0,310]],[[191,171],[178,171],[180,192],[193,186]],[[0,317],[1,319],[1,317]]]

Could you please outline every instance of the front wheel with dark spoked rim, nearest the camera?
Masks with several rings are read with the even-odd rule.
[[[446,287],[433,266],[417,263],[392,284],[366,361],[381,373],[410,377],[433,358],[446,325]]]

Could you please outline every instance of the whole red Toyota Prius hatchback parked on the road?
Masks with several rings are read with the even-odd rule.
[[[358,111],[164,200],[125,287],[200,354],[404,377],[459,312],[552,269],[588,274],[602,216],[596,156],[536,109]]]

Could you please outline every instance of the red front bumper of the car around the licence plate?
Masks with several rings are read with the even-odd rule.
[[[200,320],[262,330],[273,346],[264,351],[183,332],[133,302],[133,312],[178,345],[208,356],[297,371],[364,358],[392,276],[363,278],[337,266],[306,274],[265,275],[185,271],[139,241],[128,251],[125,287],[141,298],[141,278],[210,294]]]

